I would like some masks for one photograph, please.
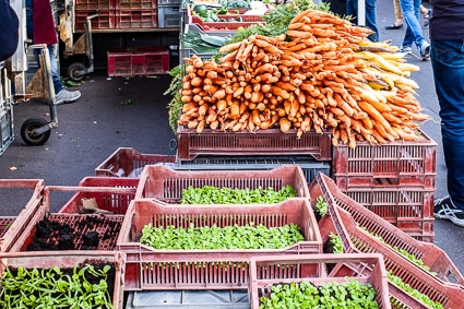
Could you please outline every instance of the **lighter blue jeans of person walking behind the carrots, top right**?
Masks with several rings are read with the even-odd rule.
[[[403,19],[406,22],[402,47],[412,47],[413,43],[419,48],[426,40],[419,23],[420,3],[423,0],[400,0]]]

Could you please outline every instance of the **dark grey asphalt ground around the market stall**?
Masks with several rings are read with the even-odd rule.
[[[424,2],[430,7],[428,2]],[[401,46],[405,29],[386,31],[394,22],[391,0],[378,0],[378,26],[380,39],[391,39]],[[428,28],[423,28],[428,37]],[[414,49],[418,54],[417,49]],[[409,57],[420,72],[412,75],[420,86],[419,100],[433,120],[423,130],[437,144],[436,197],[447,193],[445,166],[441,145],[439,106],[433,86],[430,61]],[[95,167],[118,147],[133,147],[141,153],[169,154],[169,141],[175,134],[168,124],[167,104],[164,95],[170,82],[169,75],[156,78],[107,78],[105,70],[97,70],[79,86],[82,97],[74,104],[58,106],[59,127],[51,131],[43,146],[27,146],[21,139],[21,124],[28,118],[49,118],[49,107],[44,102],[31,100],[14,106],[15,139],[0,155],[0,178],[44,179],[46,185],[76,186],[84,177],[93,176]],[[9,206],[7,197],[0,197],[0,216],[17,215],[20,209]],[[58,211],[58,205],[52,211]],[[464,228],[435,221],[435,243],[442,248],[464,273]]]

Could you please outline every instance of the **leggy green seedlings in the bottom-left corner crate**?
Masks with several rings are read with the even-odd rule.
[[[111,265],[7,268],[1,278],[0,308],[114,309],[114,278]]]

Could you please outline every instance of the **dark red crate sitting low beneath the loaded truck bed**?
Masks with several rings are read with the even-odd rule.
[[[165,74],[169,51],[162,46],[119,47],[107,51],[108,76]]]

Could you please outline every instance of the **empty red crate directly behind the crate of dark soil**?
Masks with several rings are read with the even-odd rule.
[[[85,177],[76,190],[73,187],[56,187],[56,190],[72,190],[74,195],[58,211],[62,214],[82,213],[82,199],[95,199],[98,207],[112,214],[126,214],[130,202],[135,198],[139,179],[116,177]]]

